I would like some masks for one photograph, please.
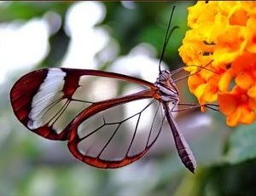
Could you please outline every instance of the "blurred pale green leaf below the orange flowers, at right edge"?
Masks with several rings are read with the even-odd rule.
[[[256,124],[236,128],[228,145],[225,159],[230,164],[256,158]]]

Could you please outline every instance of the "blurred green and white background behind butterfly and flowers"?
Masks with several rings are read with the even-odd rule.
[[[0,195],[255,195],[255,124],[230,129],[212,111],[177,116],[198,162],[195,175],[177,158],[170,132],[162,132],[137,163],[99,170],[74,159],[65,141],[48,141],[26,130],[9,104],[15,80],[40,67],[96,68],[143,78],[142,72],[153,69],[148,61],[159,61],[173,5],[172,25],[180,28],[164,62],[170,70],[183,66],[177,49],[193,4],[1,2]],[[137,52],[145,60],[141,66],[131,60]],[[195,101],[185,81],[178,86],[182,101]]]

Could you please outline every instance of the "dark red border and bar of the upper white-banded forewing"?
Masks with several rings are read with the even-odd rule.
[[[29,112],[32,109],[33,96],[37,94],[40,85],[44,83],[44,79],[47,77],[47,74],[51,69],[60,69],[62,72],[66,72],[66,76],[64,78],[64,86],[62,89],[62,98],[67,98],[68,101],[72,101],[72,96],[74,92],[79,88],[79,78],[86,75],[106,78],[117,78],[135,84],[142,84],[150,88],[149,91],[152,91],[152,95],[153,92],[155,91],[154,84],[152,83],[149,83],[140,78],[134,78],[131,76],[126,76],[114,72],[71,68],[45,68],[29,72],[23,77],[21,77],[10,90],[10,102],[15,112],[15,116],[20,120],[22,124],[26,126],[27,129],[29,129],[27,123],[29,120]],[[137,98],[139,99],[139,97]],[[66,129],[61,131],[60,134],[56,133],[55,130],[53,130],[53,128],[48,125],[44,125],[35,130],[29,130],[32,130],[32,132],[41,135],[45,138],[48,138],[50,140],[65,141],[67,140],[69,134],[69,125],[70,124],[68,124]]]

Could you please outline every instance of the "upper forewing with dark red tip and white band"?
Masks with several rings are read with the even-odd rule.
[[[52,140],[67,140],[68,124],[93,103],[125,95],[125,87],[153,84],[139,78],[67,68],[27,73],[11,89],[10,101],[16,117],[29,130]]]

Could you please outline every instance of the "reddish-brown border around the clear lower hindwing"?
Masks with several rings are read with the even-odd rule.
[[[100,101],[95,104],[92,104],[90,107],[87,107],[87,109],[81,112],[73,120],[72,124],[70,125],[70,135],[68,137],[68,148],[70,152],[73,153],[74,157],[81,160],[82,162],[98,168],[118,168],[118,167],[125,166],[126,164],[131,164],[137,159],[140,159],[141,157],[143,157],[143,155],[148,152],[149,148],[152,147],[152,145],[154,144],[154,141],[156,141],[158,136],[154,139],[154,141],[150,145],[145,147],[145,149],[141,153],[138,153],[130,157],[126,155],[125,158],[122,160],[103,160],[103,159],[100,159],[99,157],[94,158],[94,157],[83,155],[82,153],[79,152],[78,145],[79,145],[79,141],[81,140],[79,139],[79,135],[78,135],[78,127],[79,127],[79,124],[84,122],[84,120],[86,120],[87,118],[90,118],[97,112],[102,112],[103,110],[106,110],[110,107],[115,107],[119,104],[124,104],[129,101],[153,98],[154,93],[155,92],[152,89],[143,90],[132,95],[127,95],[124,97],[115,98],[108,101]],[[163,120],[164,119],[165,118],[163,118]],[[160,133],[160,130],[159,130],[159,133]]]

